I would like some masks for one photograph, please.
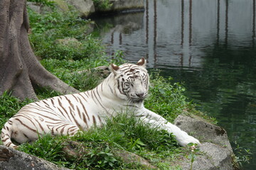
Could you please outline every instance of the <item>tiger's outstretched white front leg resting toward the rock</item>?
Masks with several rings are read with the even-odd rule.
[[[201,143],[196,138],[188,135],[187,132],[184,132],[176,125],[169,123],[166,119],[161,117],[161,115],[149,111],[148,109],[145,109],[144,112],[139,113],[138,116],[140,117],[140,120],[142,120],[144,123],[149,123],[152,128],[161,128],[169,133],[173,133],[178,144],[183,147],[191,142],[201,145]]]

